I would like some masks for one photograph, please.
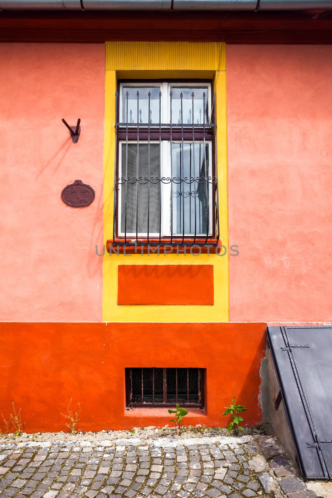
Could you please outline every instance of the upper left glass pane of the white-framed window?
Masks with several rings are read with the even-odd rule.
[[[147,124],[150,96],[150,123],[159,123],[159,91],[160,87],[123,87],[122,88],[122,123],[127,122],[127,92],[128,92],[128,123],[137,124],[137,91],[139,123]]]

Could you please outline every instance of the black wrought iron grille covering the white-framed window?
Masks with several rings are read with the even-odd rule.
[[[162,123],[166,113],[160,90],[153,106],[151,91],[145,95],[145,112],[140,88],[135,100],[133,91],[129,99],[128,89],[115,94],[122,121],[115,123],[114,246],[218,245],[216,127],[208,95],[203,91],[195,107],[195,92],[188,98],[188,87],[195,84],[187,84],[186,116],[183,91],[177,91],[175,123],[174,90],[167,97],[169,123]],[[168,174],[163,174],[165,169]]]

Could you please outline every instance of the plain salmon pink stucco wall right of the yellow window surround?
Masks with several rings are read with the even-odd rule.
[[[332,47],[226,53],[230,320],[332,321]]]

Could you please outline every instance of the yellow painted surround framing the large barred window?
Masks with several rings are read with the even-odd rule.
[[[103,320],[113,322],[227,322],[229,321],[227,129],[225,44],[204,42],[107,42],[104,144],[104,244],[113,233],[113,184],[115,157],[115,91],[117,80],[209,78],[214,81],[220,235],[227,248],[192,256],[176,253],[141,256],[107,252],[103,257]],[[118,305],[119,264],[213,264],[215,304],[213,306]],[[192,291],[188,289],[188,291]],[[130,292],[130,289],[128,289]]]

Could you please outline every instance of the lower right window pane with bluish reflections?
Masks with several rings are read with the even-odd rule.
[[[195,234],[195,210],[196,210],[196,235],[206,235],[208,227],[208,207],[212,184],[204,180],[211,176],[209,174],[209,145],[206,144],[205,158],[203,143],[172,142],[172,176],[177,178],[187,178],[186,181],[172,183],[173,198],[173,234],[184,233]],[[195,154],[195,156],[194,156]],[[195,171],[194,171],[195,157]],[[206,159],[206,164],[205,160]],[[190,178],[200,177],[198,181]],[[211,180],[210,180],[211,181]],[[187,182],[187,183],[186,183]],[[208,202],[207,202],[208,200]]]

